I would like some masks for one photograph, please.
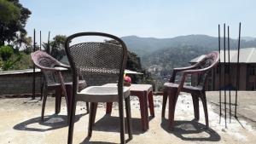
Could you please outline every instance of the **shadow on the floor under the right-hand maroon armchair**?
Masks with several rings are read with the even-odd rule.
[[[183,141],[220,141],[220,135],[206,125],[192,121],[175,121],[173,130],[168,130],[168,120],[162,119],[161,127]]]

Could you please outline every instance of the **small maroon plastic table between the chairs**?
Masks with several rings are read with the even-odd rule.
[[[104,86],[113,86],[116,84],[104,84]],[[148,106],[150,115],[154,117],[154,101],[153,101],[153,88],[150,84],[131,84],[130,86],[131,95],[135,95],[139,99],[142,128],[148,130]],[[111,114],[113,102],[107,103],[106,113]]]

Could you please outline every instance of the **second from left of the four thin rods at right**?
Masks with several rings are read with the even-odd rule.
[[[224,24],[224,112],[225,128],[227,128],[227,95],[226,95],[226,24]]]

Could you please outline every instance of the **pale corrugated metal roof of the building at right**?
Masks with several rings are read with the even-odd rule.
[[[191,63],[198,62],[204,57],[204,55],[198,56],[193,60],[190,60]],[[229,61],[228,50],[226,50],[225,54],[226,62]],[[220,50],[220,62],[224,62],[224,50]],[[237,62],[237,49],[230,50],[230,63]],[[243,48],[240,49],[240,63],[256,63],[256,48]]]

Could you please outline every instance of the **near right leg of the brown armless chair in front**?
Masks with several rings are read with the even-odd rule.
[[[125,144],[124,101],[119,100],[120,143]]]

